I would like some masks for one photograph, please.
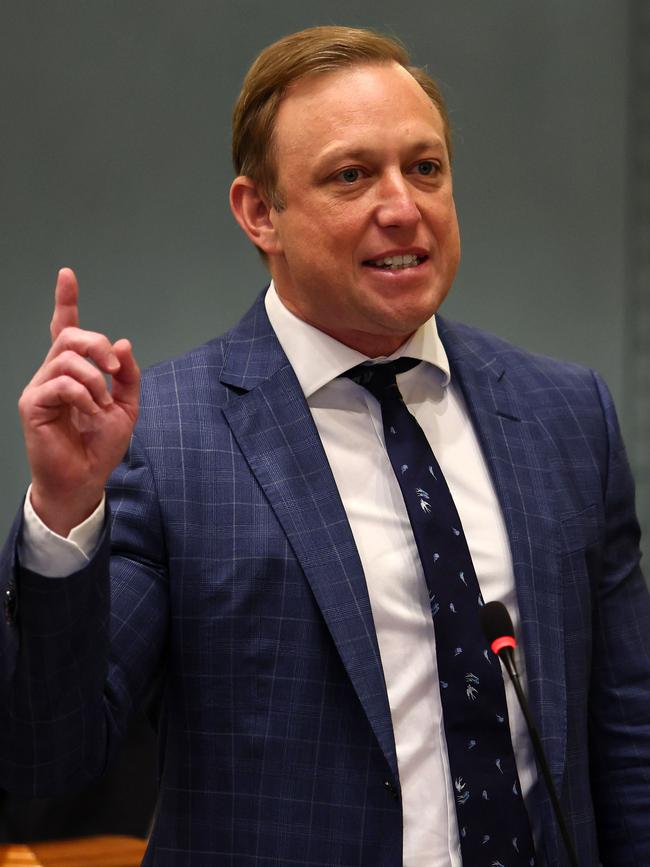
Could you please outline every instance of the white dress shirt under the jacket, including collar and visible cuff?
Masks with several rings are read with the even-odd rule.
[[[379,403],[362,386],[339,378],[367,358],[294,316],[273,284],[265,303],[311,409],[366,576],[395,735],[403,865],[461,867],[435,635],[422,566],[384,447]],[[517,629],[512,559],[501,509],[460,390],[450,382],[434,318],[390,358],[401,355],[425,362],[399,376],[400,391],[445,474],[483,597],[502,601]],[[103,515],[102,504],[64,540],[44,527],[27,497],[21,562],[46,575],[70,574],[92,555]],[[525,686],[521,653],[518,663]],[[506,699],[521,789],[529,802],[537,779],[535,764],[509,682]],[[537,831],[534,817],[533,825]]]

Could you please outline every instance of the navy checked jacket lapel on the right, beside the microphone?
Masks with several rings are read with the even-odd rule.
[[[556,785],[566,750],[560,532],[544,431],[487,337],[438,329],[486,458],[510,540],[528,693]]]

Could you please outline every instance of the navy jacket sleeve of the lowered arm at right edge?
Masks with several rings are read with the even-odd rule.
[[[596,588],[589,715],[592,791],[602,864],[632,867],[650,864],[650,601],[639,565],[634,484],[610,395],[598,377],[596,386],[608,454],[603,541],[586,555]]]

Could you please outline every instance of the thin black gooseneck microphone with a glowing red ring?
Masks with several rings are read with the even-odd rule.
[[[546,760],[544,747],[542,746],[541,738],[531,716],[528,701],[526,700],[526,696],[521,687],[521,681],[519,680],[519,672],[517,671],[514,654],[517,641],[515,639],[515,630],[512,626],[510,614],[502,602],[488,602],[480,609],[480,617],[483,633],[492,648],[492,652],[496,654],[503,663],[503,667],[508,672],[512,685],[515,688],[519,706],[521,707],[521,712],[526,720],[528,734],[530,735],[530,740],[533,744],[535,758],[537,759],[537,764],[542,772],[544,782],[546,783],[546,788],[551,799],[551,804],[553,805],[553,811],[555,813],[555,818],[557,819],[560,834],[562,835],[562,840],[564,841],[564,846],[567,855],[569,856],[569,862],[571,867],[579,867],[573,841],[569,835],[569,829],[564,819],[564,815],[562,814],[562,807],[560,806],[560,801],[555,790],[555,784],[553,783],[551,771]]]

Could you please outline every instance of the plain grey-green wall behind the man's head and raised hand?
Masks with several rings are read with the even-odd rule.
[[[222,331],[262,287],[227,208],[230,109],[262,46],[317,23],[394,33],[443,84],[464,240],[446,312],[597,367],[622,401],[621,0],[0,0],[1,533],[27,480],[15,402],[60,265],[83,324],[130,337],[145,365]]]

